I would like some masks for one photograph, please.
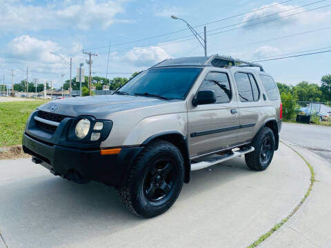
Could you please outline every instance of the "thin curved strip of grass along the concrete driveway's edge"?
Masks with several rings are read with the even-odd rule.
[[[283,143],[283,142],[281,141],[281,143]],[[314,182],[315,182],[314,168],[312,167],[312,165],[310,165],[310,163],[301,154],[299,154],[299,152],[297,152],[296,149],[293,149],[288,144],[285,144],[285,143],[283,143],[283,144],[286,145],[287,147],[289,147],[290,149],[292,149],[296,154],[298,154],[303,159],[303,161],[305,161],[305,164],[310,169],[310,185],[309,185],[309,187],[307,189],[307,192],[305,192],[305,196],[303,196],[303,198],[300,200],[300,202],[298,203],[298,205],[296,207],[294,207],[294,209],[292,210],[292,212],[288,216],[286,216],[286,218],[284,218],[283,220],[281,220],[279,223],[276,223],[270,229],[270,231],[268,231],[265,234],[261,235],[256,241],[254,241],[251,245],[249,245],[248,248],[257,247],[258,245],[261,244],[261,242],[263,242],[264,240],[266,240],[275,231],[277,231],[279,228],[281,228],[281,226],[283,226],[286,222],[288,222],[288,220],[290,220],[290,218],[299,210],[299,208],[301,207],[301,205],[303,205],[303,203],[305,202],[305,199],[307,199],[307,197],[309,196],[310,192],[312,191],[312,186],[314,185]]]

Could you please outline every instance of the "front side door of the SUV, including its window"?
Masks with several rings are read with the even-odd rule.
[[[188,144],[190,156],[199,156],[237,144],[237,97],[228,72],[208,72],[199,89],[212,90],[216,103],[197,105],[188,102]]]

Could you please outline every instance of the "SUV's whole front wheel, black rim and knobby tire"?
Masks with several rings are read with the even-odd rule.
[[[123,204],[138,216],[151,218],[167,211],[183,187],[183,156],[167,141],[150,143],[118,189]]]

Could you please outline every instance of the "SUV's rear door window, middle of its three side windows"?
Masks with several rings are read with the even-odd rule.
[[[234,74],[236,79],[239,99],[242,102],[258,101],[259,87],[252,74],[238,72]]]

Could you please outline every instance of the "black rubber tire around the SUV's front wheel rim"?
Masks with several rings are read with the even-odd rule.
[[[168,159],[172,163],[170,173],[171,176],[174,176],[174,183],[168,194],[165,194],[166,197],[163,200],[154,202],[146,196],[144,185],[146,183],[146,175],[150,175],[148,174],[150,173],[150,167],[153,163],[157,163],[155,161],[159,161],[162,158]],[[183,156],[179,149],[168,141],[159,140],[147,145],[139,154],[137,160],[134,161],[126,183],[118,189],[119,198],[121,198],[123,205],[133,214],[145,218],[163,214],[177,200],[183,187],[183,161]]]

